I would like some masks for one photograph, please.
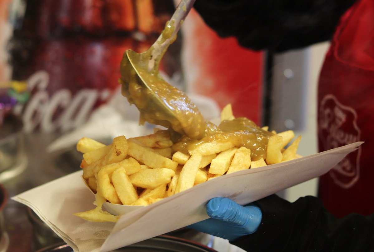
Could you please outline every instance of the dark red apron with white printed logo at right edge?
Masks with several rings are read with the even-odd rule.
[[[356,141],[319,180],[319,197],[337,217],[374,213],[374,0],[359,0],[341,18],[318,88],[319,151]]]

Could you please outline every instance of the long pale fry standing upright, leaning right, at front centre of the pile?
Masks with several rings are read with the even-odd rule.
[[[201,162],[201,155],[192,155],[190,159],[183,166],[178,179],[177,188],[175,193],[182,192],[193,187],[195,182],[197,170]]]

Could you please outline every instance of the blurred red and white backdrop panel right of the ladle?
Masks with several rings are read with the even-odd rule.
[[[220,38],[194,10],[183,24],[183,64],[188,91],[232,104],[234,116],[261,121],[263,52]]]

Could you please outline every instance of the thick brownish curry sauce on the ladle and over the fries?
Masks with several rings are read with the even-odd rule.
[[[272,133],[261,130],[247,118],[236,118],[221,122],[219,127],[205,120],[196,105],[183,91],[167,83],[159,76],[158,66],[164,51],[154,50],[162,43],[172,43],[174,25],[168,23],[162,40],[138,54],[127,50],[121,62],[122,94],[140,111],[140,124],[145,121],[161,125],[184,136],[173,147],[175,151],[187,153],[212,141],[230,142],[233,146],[244,146],[251,150],[254,160],[266,158],[266,145]],[[170,40],[169,40],[170,39]],[[155,47],[156,46],[156,47]],[[144,83],[146,85],[144,85]]]

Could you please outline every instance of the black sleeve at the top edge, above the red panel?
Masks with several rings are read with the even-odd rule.
[[[282,52],[329,40],[355,0],[197,0],[194,7],[219,36],[254,50]]]

